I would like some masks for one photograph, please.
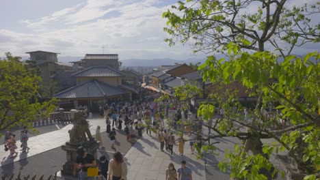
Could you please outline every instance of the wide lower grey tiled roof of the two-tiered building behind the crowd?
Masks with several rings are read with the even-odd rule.
[[[119,89],[118,87],[92,80],[59,92],[55,94],[54,97],[57,97],[57,99],[94,98],[122,95],[125,93],[126,91]]]

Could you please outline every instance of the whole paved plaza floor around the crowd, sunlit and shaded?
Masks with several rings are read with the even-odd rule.
[[[111,150],[109,138],[105,134],[105,120],[101,118],[88,119],[90,123],[90,132],[92,135],[96,132],[97,125],[101,126],[101,135],[105,149],[98,149],[98,155],[106,155],[108,159],[112,158],[114,153]],[[55,130],[38,136],[29,138],[28,145],[31,148],[29,153],[21,153],[15,159],[10,159],[9,152],[1,151],[1,168],[2,174],[13,174],[23,169],[23,173],[35,175],[52,175],[54,172],[61,170],[62,164],[66,161],[66,152],[61,149],[61,146],[69,140],[68,130],[72,128],[72,124],[66,125],[60,130]],[[187,166],[191,168],[194,180],[206,179],[230,179],[230,172],[221,172],[217,166],[219,161],[224,159],[226,149],[233,149],[237,138],[215,138],[217,151],[215,155],[207,154],[205,157],[198,159],[196,154],[191,154],[189,141],[185,142],[185,153],[179,155],[178,146],[174,145],[174,154],[171,156],[169,151],[162,152],[160,143],[152,132],[152,135],[144,132],[143,137],[139,138],[134,145],[126,142],[126,136],[123,131],[118,131],[116,148],[124,153],[125,161],[128,164],[128,178],[131,180],[163,180],[165,179],[165,170],[168,164],[173,163],[175,168],[180,167],[180,162],[185,160]],[[208,131],[202,129],[202,134],[206,136]],[[188,139],[187,134],[184,136]],[[20,147],[20,140],[17,141],[17,146]],[[3,145],[0,148],[4,149]],[[55,157],[55,158],[53,158]],[[272,158],[273,161],[276,161]],[[48,164],[46,164],[48,163]],[[43,169],[42,169],[42,165]],[[277,163],[276,163],[277,164]],[[14,169],[15,168],[15,169]],[[33,170],[33,168],[37,168]],[[51,168],[53,170],[51,170]],[[14,170],[13,170],[14,169]],[[24,174],[22,174],[24,175]]]

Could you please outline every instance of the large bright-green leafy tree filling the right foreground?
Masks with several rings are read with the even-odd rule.
[[[235,93],[226,96],[226,92],[223,97],[213,93],[216,103],[202,104],[198,110],[208,121],[215,109],[225,110],[224,118],[208,125],[215,135],[204,140],[228,136],[242,140],[219,164],[222,170],[230,168],[234,178],[273,179],[277,170],[269,157],[279,150],[286,151],[299,170],[310,175],[306,179],[315,179],[319,172],[320,55],[312,52],[301,59],[291,52],[295,46],[319,42],[320,23],[311,17],[319,13],[320,3],[302,7],[286,7],[286,3],[187,0],[163,13],[168,18],[164,30],[172,36],[165,40],[170,46],[189,41],[194,52],[228,52],[226,59],[209,56],[199,67],[204,81],[222,86],[237,81],[257,98],[255,108],[249,110],[250,123],[235,113],[235,106],[243,109]],[[284,61],[275,53],[285,57]],[[279,113],[266,113],[272,107]],[[276,143],[267,145],[262,138]]]

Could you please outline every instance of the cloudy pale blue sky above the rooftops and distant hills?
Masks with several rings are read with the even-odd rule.
[[[177,0],[0,1],[0,57],[5,52],[26,56],[25,52],[34,50],[77,57],[104,52],[118,54],[120,59],[205,56],[193,55],[189,44],[169,47],[164,42],[168,34],[163,31],[166,20],[162,13]],[[303,54],[310,47],[297,48],[295,54]]]

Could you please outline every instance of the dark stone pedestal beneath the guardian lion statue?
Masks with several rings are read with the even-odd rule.
[[[84,147],[85,151],[87,153],[92,154],[96,159],[97,158],[96,149],[98,149],[99,145],[100,145],[100,142],[96,142],[96,140],[85,142],[82,145],[74,145],[70,142],[66,142],[66,145],[62,145],[62,149],[66,151],[67,162],[64,164],[63,169],[61,170],[61,175],[75,177],[73,176],[73,170],[75,168],[75,162],[78,156],[78,153],[77,153],[78,147],[80,146]],[[78,175],[78,172],[79,171],[77,171],[76,173],[77,175]]]

